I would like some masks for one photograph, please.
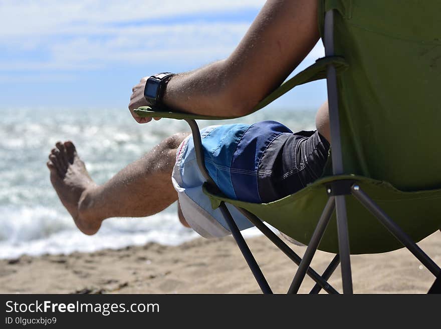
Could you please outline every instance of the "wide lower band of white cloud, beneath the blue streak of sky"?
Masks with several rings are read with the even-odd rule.
[[[213,61],[229,55],[248,29],[243,23],[185,24],[105,29],[90,36],[34,41],[50,55],[45,61],[1,62],[0,70],[77,70],[110,63]],[[104,35],[103,35],[104,34]],[[146,38],[146,36],[150,36]]]

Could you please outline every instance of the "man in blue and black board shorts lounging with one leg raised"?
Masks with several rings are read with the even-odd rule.
[[[268,0],[229,58],[172,76],[158,101],[194,114],[246,115],[287,78],[318,40],[316,0]],[[144,97],[146,81],[143,78],[133,88],[129,104],[138,123],[150,121],[133,112],[151,105]],[[321,175],[329,149],[328,122],[324,104],[317,112],[314,132],[293,134],[273,121],[208,127],[201,135],[210,176],[227,196],[240,200],[269,202],[294,193]],[[100,186],[88,175],[74,144],[58,142],[49,155],[51,182],[86,234],[96,233],[106,218],[149,216],[179,198],[183,225],[206,237],[226,235],[222,216],[211,210],[201,192],[203,180],[192,161],[194,150],[187,135],[167,138]],[[237,221],[240,229],[250,226],[244,218]]]

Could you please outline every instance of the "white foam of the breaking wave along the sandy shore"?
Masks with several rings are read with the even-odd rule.
[[[45,207],[0,207],[0,258],[22,254],[91,252],[158,242],[177,245],[197,237],[171,211],[148,218],[111,218],[94,236],[81,233],[69,215]]]

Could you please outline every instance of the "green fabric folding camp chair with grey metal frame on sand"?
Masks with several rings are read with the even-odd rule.
[[[299,265],[289,293],[298,291],[306,274],[317,282],[312,293],[338,293],[327,280],[339,263],[343,292],[352,293],[350,254],[403,246],[435,276],[428,292],[441,292],[441,269],[415,243],[441,229],[441,152],[434,144],[441,139],[440,17],[441,2],[319,0],[325,57],[254,110],[295,86],[326,78],[331,156],[320,179],[274,202],[229,199],[208,175],[195,119],[226,118],[135,110],[190,125],[204,192],[222,211],[264,293],[271,288],[225,203]],[[308,245],[303,259],[263,222]],[[336,254],[322,275],[310,267],[317,249]]]

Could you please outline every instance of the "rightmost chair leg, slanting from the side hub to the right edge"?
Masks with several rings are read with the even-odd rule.
[[[378,220],[392,233],[395,238],[400,241],[409,251],[419,259],[419,261],[435,276],[441,275],[441,268],[421,250],[418,245],[397,225],[386,213],[361,190],[358,185],[351,188],[352,195],[360,201]]]

